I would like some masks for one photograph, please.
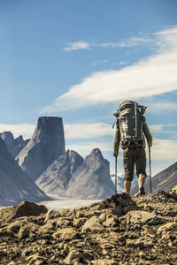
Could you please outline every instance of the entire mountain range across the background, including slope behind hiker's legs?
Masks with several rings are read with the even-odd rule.
[[[30,140],[14,139],[11,132],[0,136],[0,204],[42,201],[45,193],[80,199],[104,199],[114,193],[115,176],[110,176],[110,163],[98,148],[85,159],[73,150],[65,152],[61,117],[39,117]],[[153,191],[170,191],[177,185],[176,174],[177,163],[158,173],[152,178]],[[150,192],[148,178],[145,189]],[[118,176],[118,193],[123,191],[124,178]],[[137,191],[135,175],[131,194]]]

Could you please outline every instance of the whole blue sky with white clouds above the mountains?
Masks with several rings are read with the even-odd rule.
[[[113,113],[135,100],[152,175],[176,162],[176,0],[0,0],[0,58],[1,133],[27,139],[38,117],[62,117],[66,149],[100,148],[113,173]]]

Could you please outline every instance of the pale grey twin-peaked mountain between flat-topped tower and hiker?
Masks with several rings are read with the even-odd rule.
[[[46,193],[80,199],[103,199],[114,191],[110,163],[99,149],[94,149],[85,160],[76,152],[68,150],[35,183]]]

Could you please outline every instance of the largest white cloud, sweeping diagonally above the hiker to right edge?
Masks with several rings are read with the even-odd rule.
[[[172,35],[173,33],[173,35]],[[95,72],[59,96],[41,113],[131,98],[143,99],[177,89],[177,27],[156,34],[156,54],[119,71]]]

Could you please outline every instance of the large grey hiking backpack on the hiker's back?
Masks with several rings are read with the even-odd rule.
[[[139,148],[145,147],[145,140],[142,132],[142,114],[146,107],[138,105],[134,101],[122,102],[119,110],[114,113],[117,117],[121,147]]]

